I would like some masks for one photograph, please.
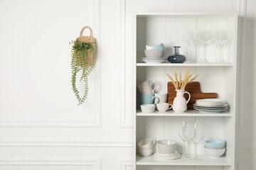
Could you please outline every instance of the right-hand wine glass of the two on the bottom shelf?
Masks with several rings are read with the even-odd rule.
[[[198,157],[198,155],[197,155],[197,145],[203,139],[202,123],[200,123],[200,122],[193,123],[193,127],[191,128],[191,130],[192,130],[191,131],[191,140],[195,145],[195,148],[194,148],[195,153],[194,153],[193,157],[191,157],[191,159],[201,160],[201,158]]]

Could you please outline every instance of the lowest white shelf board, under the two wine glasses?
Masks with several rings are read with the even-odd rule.
[[[153,155],[142,157],[137,154],[137,165],[181,165],[181,166],[232,166],[232,162],[227,157],[210,158],[206,154],[198,154],[201,160],[191,160],[190,158],[178,158],[174,160],[156,159]]]

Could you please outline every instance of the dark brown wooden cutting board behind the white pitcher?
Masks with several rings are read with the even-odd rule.
[[[174,98],[176,97],[176,91],[174,84],[169,81],[167,84],[168,89],[168,103],[174,103]],[[203,98],[217,98],[218,94],[216,93],[202,93],[200,89],[200,83],[198,81],[193,81],[190,84],[186,85],[185,91],[191,94],[191,99],[188,101],[188,110],[192,110],[193,104],[196,103],[196,100]],[[184,94],[186,100],[188,100],[188,94]]]

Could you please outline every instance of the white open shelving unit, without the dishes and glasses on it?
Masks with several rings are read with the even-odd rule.
[[[191,71],[199,74],[201,91],[205,93],[215,92],[218,98],[228,103],[229,110],[225,113],[199,113],[196,110],[186,113],[142,113],[139,108],[139,91],[134,87],[134,166],[135,169],[225,169],[235,170],[235,106],[236,106],[236,75],[237,75],[237,31],[238,16],[236,14],[220,13],[137,13],[135,15],[135,42],[134,42],[134,86],[142,81],[157,81],[159,86],[157,93],[167,93],[169,79],[166,72],[174,73],[174,67],[178,72]],[[173,46],[181,46],[180,53],[188,55],[188,45],[181,40],[183,30],[203,29],[228,29],[233,34],[230,45],[224,48],[224,63],[214,63],[215,45],[208,46],[208,63],[198,63],[201,57],[199,45],[191,47],[192,63],[172,64],[169,62],[149,64],[142,62],[145,45],[158,45],[164,42],[166,47],[164,57],[174,53]],[[142,157],[138,154],[137,143],[144,138],[155,140],[171,139],[178,142],[177,151],[183,151],[183,143],[178,137],[178,123],[181,120],[201,121],[203,123],[204,137],[198,144],[200,161],[188,158],[179,158],[171,161],[156,159],[153,155]],[[206,155],[203,146],[208,139],[224,139],[227,141],[227,149],[223,157],[212,159]],[[188,152],[193,154],[193,144],[188,145]],[[152,167],[151,167],[152,166]]]

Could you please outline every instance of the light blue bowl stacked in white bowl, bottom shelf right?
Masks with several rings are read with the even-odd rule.
[[[226,149],[225,140],[206,140],[204,148],[209,157],[221,157]]]

